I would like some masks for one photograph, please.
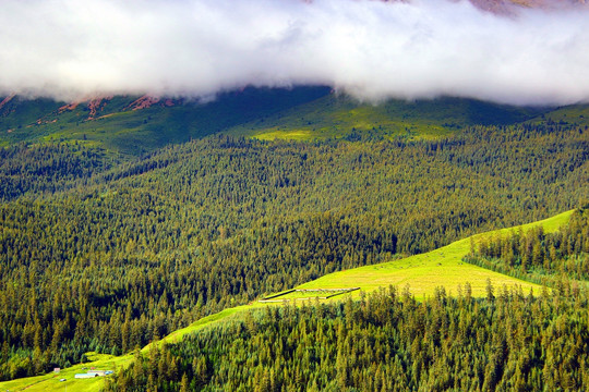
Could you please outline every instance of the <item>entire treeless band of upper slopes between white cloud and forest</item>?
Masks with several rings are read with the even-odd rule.
[[[262,139],[435,138],[472,125],[520,123],[549,111],[460,98],[359,102],[326,87],[247,88],[202,102],[129,96],[0,100],[0,145],[77,142],[120,159],[218,132]]]

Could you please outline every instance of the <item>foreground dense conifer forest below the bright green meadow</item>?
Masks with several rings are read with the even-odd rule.
[[[585,391],[587,291],[267,307],[153,345],[107,391]],[[540,294],[540,293],[538,293]]]

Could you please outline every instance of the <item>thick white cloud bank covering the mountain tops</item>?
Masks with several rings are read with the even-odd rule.
[[[589,101],[589,12],[468,1],[7,0],[0,95],[211,97],[329,85],[360,99]]]

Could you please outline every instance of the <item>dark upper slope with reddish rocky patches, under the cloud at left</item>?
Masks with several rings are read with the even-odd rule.
[[[139,97],[117,96],[100,100],[94,113],[88,102],[64,109],[68,102],[0,97],[0,146],[57,139],[137,156],[274,115],[328,93],[326,87],[245,88],[211,101],[163,100],[141,110],[133,106]]]

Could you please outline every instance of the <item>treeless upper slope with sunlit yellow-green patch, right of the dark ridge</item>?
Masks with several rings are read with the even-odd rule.
[[[462,98],[388,100],[376,105],[330,94],[225,132],[260,139],[353,139],[366,135],[434,138],[469,125],[515,124],[541,112],[543,111],[540,109]]]

